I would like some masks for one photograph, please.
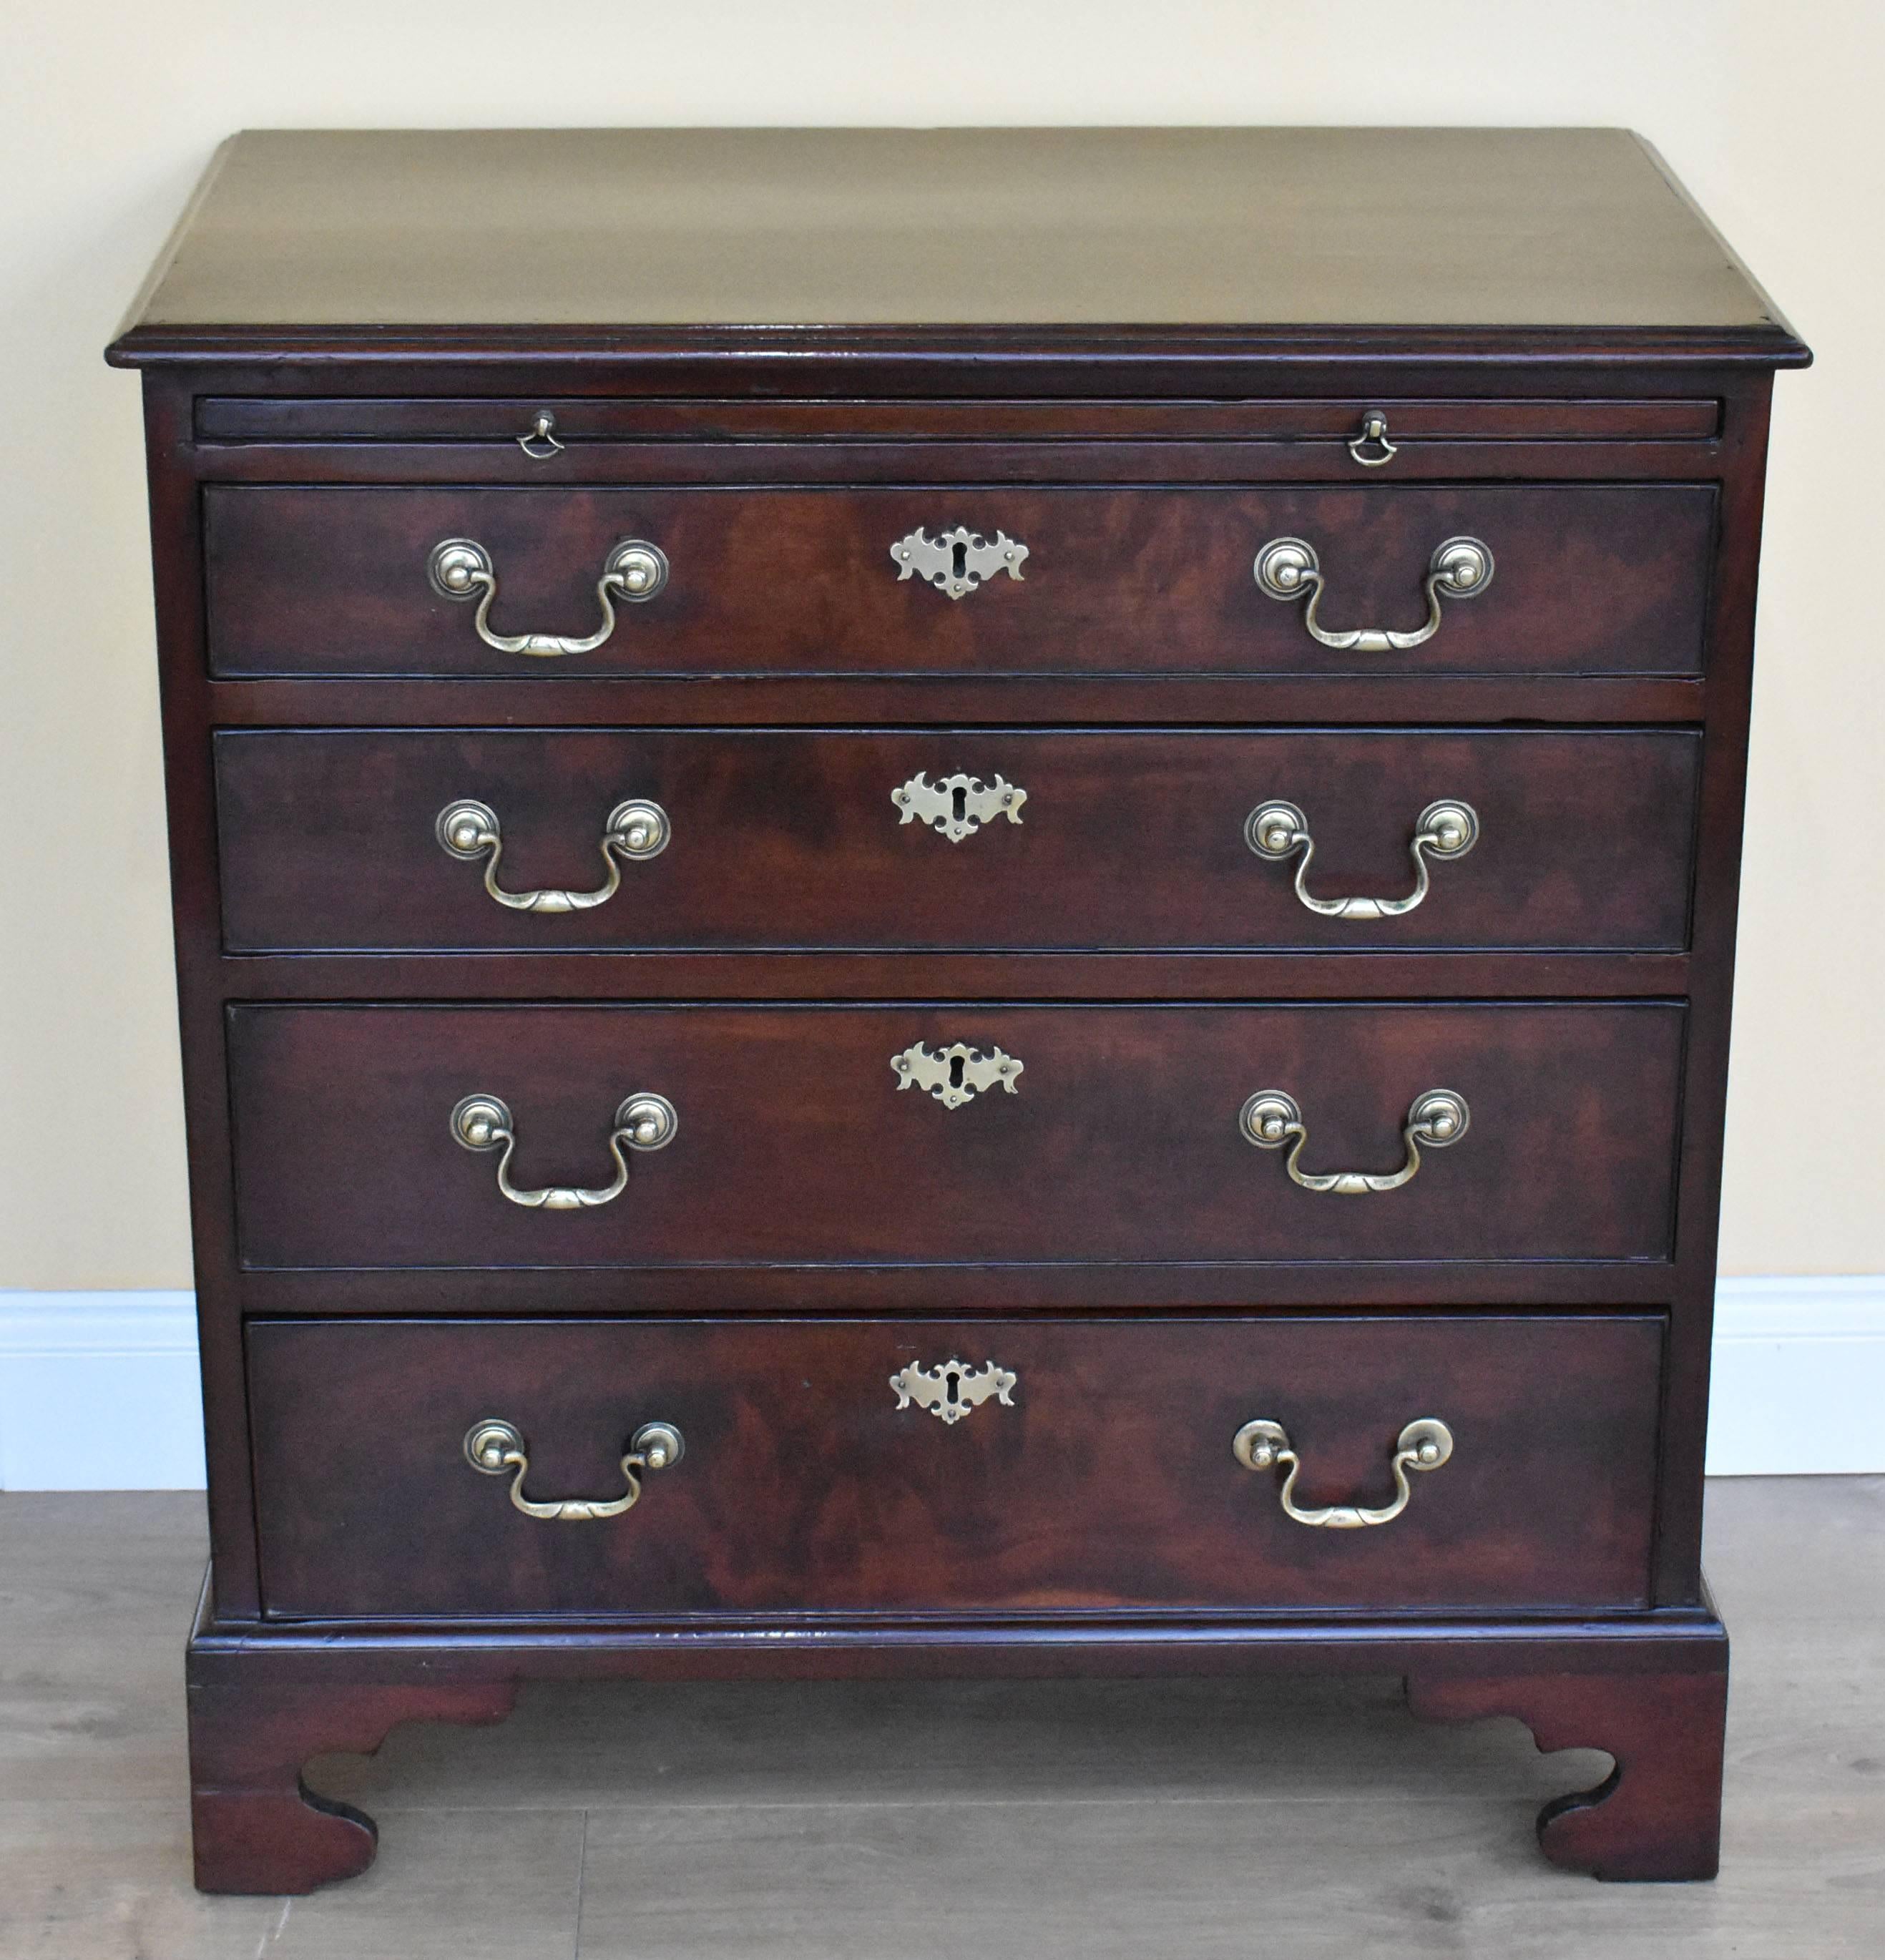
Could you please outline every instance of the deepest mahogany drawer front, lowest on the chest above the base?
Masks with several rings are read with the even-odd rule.
[[[925,1405],[946,1362],[954,1401]],[[265,1321],[263,1595],[294,1617],[1636,1607],[1660,1372],[1656,1317]],[[1297,1509],[1385,1511],[1421,1417],[1452,1454],[1362,1529],[1285,1515],[1281,1470],[1232,1448],[1276,1423]],[[539,1505],[627,1495],[647,1423],[684,1448],[629,1509],[543,1519],[515,1464],[470,1466],[494,1421]]]

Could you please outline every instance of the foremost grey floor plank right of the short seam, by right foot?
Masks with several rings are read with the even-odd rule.
[[[580,1960],[1877,1960],[1885,1854],[1742,1833],[1715,1886],[1546,1866],[1530,1805],[729,1805],[590,1815]]]

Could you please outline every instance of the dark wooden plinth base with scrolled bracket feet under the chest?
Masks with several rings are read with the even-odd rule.
[[[1546,1858],[1615,1880],[1715,1876],[1728,1637],[1707,1603],[1609,1621],[858,1615],[502,1631],[218,1625],[206,1605],[186,1662],[196,1882],[294,1893],[362,1872],[372,1819],[310,1791],[302,1764],[370,1752],[404,1721],[502,1721],[531,1680],[1274,1672],[1401,1676],[1421,1717],[1515,1715],[1540,1750],[1607,1750],[1603,1784],[1540,1813]]]

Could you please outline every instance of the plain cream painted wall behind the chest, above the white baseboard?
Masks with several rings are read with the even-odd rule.
[[[1885,1270],[1885,10],[1871,0],[8,0],[0,1288],[186,1286],[137,384],[243,125],[1628,123],[1818,367],[1777,388],[1724,1270]],[[1873,625],[1873,619],[1879,619]]]

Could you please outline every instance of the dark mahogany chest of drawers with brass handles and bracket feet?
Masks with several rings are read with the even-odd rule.
[[[143,368],[198,1882],[541,1676],[1350,1670],[1715,1868],[1771,370],[1615,131],[249,135]]]

